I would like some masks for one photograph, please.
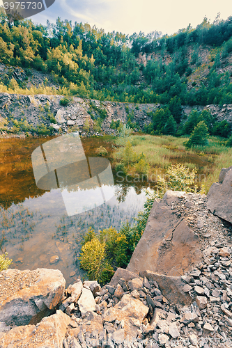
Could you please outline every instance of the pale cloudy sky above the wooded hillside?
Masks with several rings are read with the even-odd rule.
[[[33,1],[33,0],[32,0]],[[41,0],[45,2],[44,0]],[[0,0],[0,4],[2,0]],[[126,35],[142,31],[162,31],[171,35],[189,24],[196,27],[203,17],[213,22],[217,13],[222,19],[232,15],[230,0],[56,0],[42,13],[31,17],[46,24],[57,17],[97,26],[98,29],[121,31]]]

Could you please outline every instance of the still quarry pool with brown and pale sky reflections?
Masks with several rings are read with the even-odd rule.
[[[137,216],[144,207],[146,195],[143,185],[138,189],[128,183],[126,185],[118,183],[116,173],[113,171],[111,181],[109,177],[102,176],[101,180],[108,180],[108,184],[103,182],[100,185],[100,189],[97,190],[100,198],[99,195],[95,198],[97,191],[93,182],[98,185],[96,177],[101,178],[101,174],[94,173],[96,168],[94,165],[94,168],[91,167],[93,175],[89,179],[90,181],[87,180],[88,184],[92,182],[90,187],[86,184],[86,187],[80,192],[82,196],[73,196],[77,189],[72,188],[67,191],[65,183],[62,187],[62,183],[67,181],[66,178],[70,175],[67,170],[69,161],[67,154],[62,159],[65,161],[66,167],[63,166],[63,168],[66,168],[66,171],[62,173],[59,172],[59,169],[54,171],[55,178],[60,181],[57,182],[58,187],[55,179],[51,184],[52,179],[50,178],[50,181],[47,179],[50,187],[41,189],[41,180],[36,182],[36,170],[35,166],[33,168],[31,155],[32,153],[39,154],[36,157],[37,169],[42,173],[43,167],[48,168],[48,158],[51,155],[50,149],[50,152],[46,152],[48,151],[46,146],[49,143],[56,145],[56,139],[59,142],[59,138],[61,136],[53,139],[0,139],[0,246],[1,252],[7,251],[8,257],[13,259],[11,268],[60,269],[69,284],[82,276],[77,258],[81,249],[82,236],[88,228],[91,226],[98,231],[112,226],[118,230],[126,221],[130,224],[133,223],[134,216]],[[88,159],[89,166],[92,166],[91,163],[96,158],[95,150],[100,145],[111,152],[109,140],[105,141],[104,138],[82,139],[84,149],[82,155],[84,154]],[[52,151],[55,148],[56,146]],[[47,154],[45,164],[42,163],[41,154]],[[53,157],[56,166],[62,166],[57,162],[60,157],[56,157],[54,154]],[[102,157],[97,158],[103,160]],[[104,166],[109,170],[107,164]],[[72,167],[71,172],[76,173],[77,168]],[[39,177],[41,173],[38,173],[37,176]],[[93,195],[89,196],[91,190],[94,192],[94,198]],[[68,195],[68,201],[71,202],[69,205],[67,205],[67,199],[64,198],[64,193],[66,196]],[[103,193],[104,200],[102,200],[101,193]],[[84,197],[87,197],[85,202]],[[73,210],[73,205],[77,200],[82,209]],[[88,206],[86,207],[86,205]]]

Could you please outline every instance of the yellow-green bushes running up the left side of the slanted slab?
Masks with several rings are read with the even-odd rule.
[[[127,267],[134,248],[146,228],[155,198],[162,198],[167,189],[194,191],[192,186],[195,175],[195,168],[190,171],[180,164],[171,165],[167,169],[167,179],[157,178],[157,191],[146,191],[148,197],[144,203],[144,211],[139,212],[134,226],[130,227],[126,223],[119,231],[110,227],[99,231],[98,234],[89,228],[84,236],[79,256],[81,267],[87,271],[88,277],[106,283],[114,275],[114,267]]]

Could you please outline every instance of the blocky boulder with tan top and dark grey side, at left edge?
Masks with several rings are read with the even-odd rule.
[[[63,299],[65,279],[58,269],[0,272],[0,322],[27,325],[51,314]]]

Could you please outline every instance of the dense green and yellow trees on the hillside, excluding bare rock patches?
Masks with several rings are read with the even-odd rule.
[[[50,72],[70,95],[119,102],[170,104],[177,98],[179,104],[228,104],[232,103],[231,71],[219,68],[232,52],[231,35],[232,17],[217,17],[212,24],[204,18],[196,29],[188,26],[171,36],[157,31],[129,36],[59,18],[47,26],[31,20],[10,23],[2,11],[0,60]],[[201,81],[199,47],[206,45],[212,52],[206,79]],[[140,52],[155,52],[155,58],[144,66],[137,60]],[[197,81],[192,81],[196,72]],[[17,86],[8,76],[1,84]],[[171,115],[180,121],[173,111]]]

